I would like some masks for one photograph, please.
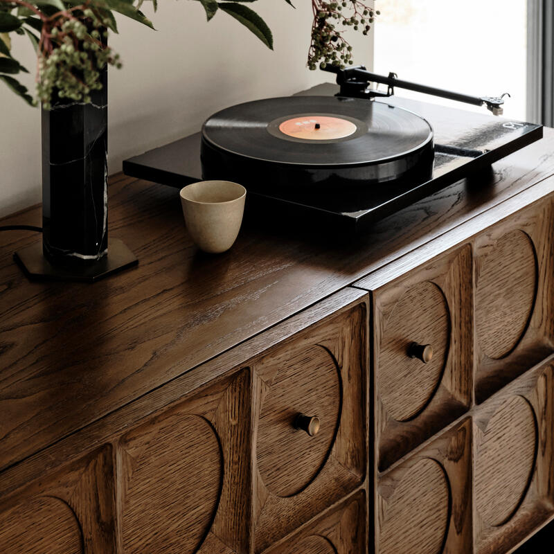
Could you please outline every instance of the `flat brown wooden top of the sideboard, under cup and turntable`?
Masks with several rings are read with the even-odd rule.
[[[452,229],[472,233],[554,190],[554,130],[352,240],[246,224],[199,252],[179,191],[121,174],[109,232],[139,266],[94,284],[30,283],[0,233],[0,469],[152,391]],[[38,206],[0,224],[40,224]],[[449,235],[452,233],[449,233]],[[463,238],[463,237],[462,237]],[[445,247],[449,247],[445,242]]]

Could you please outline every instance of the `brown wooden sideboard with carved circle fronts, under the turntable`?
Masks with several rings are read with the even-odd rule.
[[[506,554],[554,533],[554,131],[357,238],[116,175],[136,269],[1,233],[2,554]],[[37,224],[31,208],[3,224]],[[550,536],[551,536],[550,535]]]

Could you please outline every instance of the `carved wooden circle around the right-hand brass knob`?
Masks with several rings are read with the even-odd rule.
[[[404,293],[384,325],[379,352],[379,395],[392,418],[409,420],[431,400],[443,375],[449,337],[447,302],[434,283]],[[427,363],[410,357],[414,343],[431,346]]]

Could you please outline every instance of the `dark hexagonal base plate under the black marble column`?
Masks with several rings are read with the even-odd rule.
[[[18,250],[13,255],[30,280],[94,281],[123,271],[139,263],[123,242],[110,239],[108,254],[100,260],[75,262],[67,260],[53,265],[42,253],[42,242]]]

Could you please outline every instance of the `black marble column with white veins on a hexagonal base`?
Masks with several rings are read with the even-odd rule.
[[[91,102],[42,110],[44,256],[93,262],[107,254],[107,70]]]

